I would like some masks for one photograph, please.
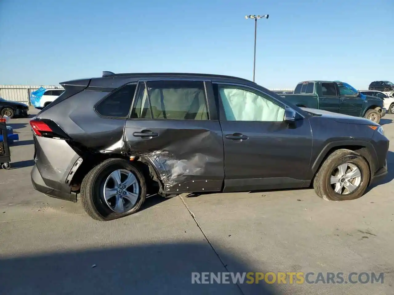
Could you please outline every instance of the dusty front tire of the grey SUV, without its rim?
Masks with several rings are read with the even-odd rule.
[[[346,162],[354,164],[359,168],[361,171],[361,183],[350,194],[337,194],[330,184],[331,173],[336,167]],[[368,162],[364,157],[349,149],[338,149],[323,162],[314,178],[313,187],[316,194],[327,201],[354,200],[364,194],[370,181],[370,174]]]

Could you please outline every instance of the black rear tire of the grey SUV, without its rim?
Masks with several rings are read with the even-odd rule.
[[[116,213],[104,201],[105,179],[117,169],[125,169],[134,173],[139,186],[139,197],[131,210],[125,213]],[[81,184],[81,202],[85,212],[93,219],[108,221],[122,218],[139,210],[146,198],[146,183],[142,173],[130,162],[124,159],[107,159],[97,165],[85,175]]]

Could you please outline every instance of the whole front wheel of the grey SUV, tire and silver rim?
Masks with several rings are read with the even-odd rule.
[[[368,162],[349,149],[334,151],[323,162],[313,181],[316,194],[327,201],[361,197],[369,183]]]

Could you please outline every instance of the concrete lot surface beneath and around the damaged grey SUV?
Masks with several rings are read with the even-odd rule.
[[[393,147],[386,179],[357,200],[312,189],[151,197],[99,222],[33,189],[29,120],[11,120],[20,140],[0,170],[2,294],[394,294]],[[390,140],[392,120],[381,122]],[[191,272],[237,271],[383,272],[384,282],[191,284]]]

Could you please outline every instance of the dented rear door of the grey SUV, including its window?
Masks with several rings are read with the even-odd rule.
[[[208,81],[139,81],[125,140],[158,171],[167,194],[221,190],[223,136]]]

